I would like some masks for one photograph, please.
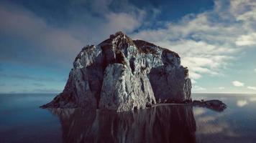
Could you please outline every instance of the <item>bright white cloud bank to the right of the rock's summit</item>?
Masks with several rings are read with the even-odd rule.
[[[223,76],[244,48],[255,46],[256,1],[214,3],[213,10],[188,14],[162,28],[138,31],[133,37],[178,52],[191,79]]]

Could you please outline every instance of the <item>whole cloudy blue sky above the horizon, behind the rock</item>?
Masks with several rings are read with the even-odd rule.
[[[116,31],[178,52],[193,93],[256,93],[254,0],[0,1],[0,93],[57,93]]]

